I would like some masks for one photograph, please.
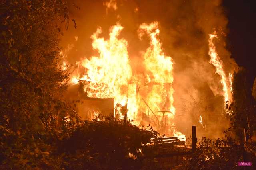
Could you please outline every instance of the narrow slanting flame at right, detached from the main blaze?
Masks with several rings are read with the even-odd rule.
[[[216,72],[217,74],[220,75],[221,77],[221,84],[223,86],[223,92],[224,92],[224,98],[225,98],[225,103],[226,101],[230,101],[231,100],[231,95],[229,94],[229,91],[228,91],[228,78],[226,77],[226,74],[224,72],[224,66],[223,66],[223,62],[222,60],[220,59],[220,57],[218,56],[217,52],[216,52],[216,47],[214,45],[214,42],[213,42],[213,39],[214,38],[218,38],[218,36],[216,35],[216,31],[214,31],[213,34],[209,34],[209,39],[208,39],[208,42],[209,42],[209,52],[208,54],[210,55],[211,59],[210,59],[210,63],[212,63],[215,68],[216,68]]]

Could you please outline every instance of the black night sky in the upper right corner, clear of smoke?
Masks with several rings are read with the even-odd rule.
[[[228,16],[228,49],[239,66],[250,73],[250,79],[256,76],[256,6],[254,1],[224,0]]]

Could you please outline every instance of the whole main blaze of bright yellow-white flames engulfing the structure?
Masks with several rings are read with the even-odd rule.
[[[127,118],[139,127],[151,124],[153,128],[180,138],[185,136],[176,131],[174,125],[175,108],[173,61],[165,56],[158,36],[158,22],[142,23],[138,29],[140,39],[150,37],[150,46],[143,55],[145,71],[133,74],[127,51],[128,42],[118,38],[123,27],[117,23],[110,28],[109,39],[100,38],[99,27],[91,36],[92,47],[99,56],[78,61],[78,67],[84,68],[84,74],[72,77],[76,84],[84,80],[84,91],[92,98],[114,98],[117,107],[115,117],[122,118],[119,106],[127,104]],[[79,73],[79,72],[78,72]]]

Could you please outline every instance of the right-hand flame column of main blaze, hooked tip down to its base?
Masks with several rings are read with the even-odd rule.
[[[160,33],[158,22],[150,24],[142,23],[138,30],[139,38],[141,39],[145,33],[151,40],[150,47],[144,53],[146,77],[148,83],[152,84],[152,87],[148,88],[147,102],[151,109],[158,113],[157,117],[161,120],[162,128],[167,127],[167,129],[163,129],[166,134],[172,134],[185,139],[182,133],[176,131],[172,120],[175,114],[175,108],[173,106],[174,89],[172,88],[173,60],[171,57],[165,56],[162,51],[162,44],[158,39]],[[172,125],[174,126],[169,128]]]

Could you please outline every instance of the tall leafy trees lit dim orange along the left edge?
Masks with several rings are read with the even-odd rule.
[[[58,66],[66,1],[4,0],[0,16],[0,167],[49,169],[54,143],[77,118],[59,95],[69,76]]]

